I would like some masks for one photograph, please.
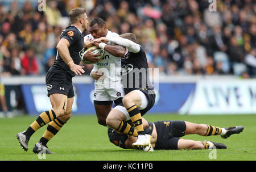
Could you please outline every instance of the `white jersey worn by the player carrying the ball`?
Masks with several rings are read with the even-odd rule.
[[[113,36],[119,36],[115,32],[111,32],[108,30],[108,33],[106,37],[113,37]],[[92,38],[93,36],[91,34],[86,35],[84,37],[84,41]],[[114,45],[114,43],[111,43],[110,41],[106,43],[108,45]],[[122,85],[122,77],[121,77],[121,58],[115,57],[109,52],[105,51],[104,55],[101,57],[101,60],[93,64],[92,71],[100,71],[103,72],[105,75],[105,79],[103,81],[94,81],[94,85],[97,87],[104,86],[104,87],[116,87]]]

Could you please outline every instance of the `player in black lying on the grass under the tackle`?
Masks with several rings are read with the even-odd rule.
[[[200,136],[220,135],[226,139],[243,131],[243,126],[220,128],[208,124],[195,124],[178,120],[150,123],[143,119],[143,125],[145,127],[144,132],[153,137],[151,141],[152,149],[213,149],[214,146],[216,149],[226,149],[226,145],[221,143],[180,139],[180,137],[197,134]],[[134,149],[132,145],[137,141],[137,137],[124,135],[111,128],[108,129],[108,136],[110,142],[123,149]]]

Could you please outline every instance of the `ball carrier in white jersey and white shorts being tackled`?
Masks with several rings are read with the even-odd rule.
[[[84,37],[85,47],[90,47],[93,44],[93,39],[100,37],[118,36],[117,33],[111,32],[106,27],[104,20],[95,18],[90,22],[89,31],[91,34]],[[106,45],[106,46],[105,46]],[[106,117],[112,110],[113,102],[118,105],[122,103],[122,97],[125,95],[121,82],[121,58],[115,56],[115,51],[108,52],[108,45],[114,43],[106,43],[104,55],[99,60],[92,51],[84,55],[84,60],[93,62],[93,70],[91,73],[96,74],[99,78],[104,76],[104,79],[97,79],[94,82],[93,102],[98,123],[106,126]],[[116,46],[118,51],[125,53],[125,48]]]

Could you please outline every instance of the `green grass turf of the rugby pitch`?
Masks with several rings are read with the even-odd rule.
[[[36,116],[19,116],[13,119],[0,119],[0,160],[40,160],[32,148],[46,130],[40,128],[31,137],[28,151],[24,152],[16,140],[16,133],[24,131]],[[222,142],[228,146],[225,150],[216,150],[216,159],[210,159],[212,150],[155,150],[146,153],[140,150],[121,149],[108,140],[107,128],[97,124],[95,115],[72,116],[59,133],[48,143],[52,152],[42,160],[256,160],[256,115],[145,115],[148,121],[186,120],[193,123],[207,123],[218,127],[243,125],[240,135],[222,139],[220,136],[203,137],[187,135],[183,139],[210,140]],[[213,152],[212,152],[213,153]],[[145,156],[146,155],[146,156]],[[41,161],[41,160],[40,160]]]

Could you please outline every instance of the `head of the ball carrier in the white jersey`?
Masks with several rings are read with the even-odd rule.
[[[90,22],[89,31],[94,37],[94,39],[105,37],[108,33],[106,23],[101,18],[95,18],[92,20],[92,22]]]

